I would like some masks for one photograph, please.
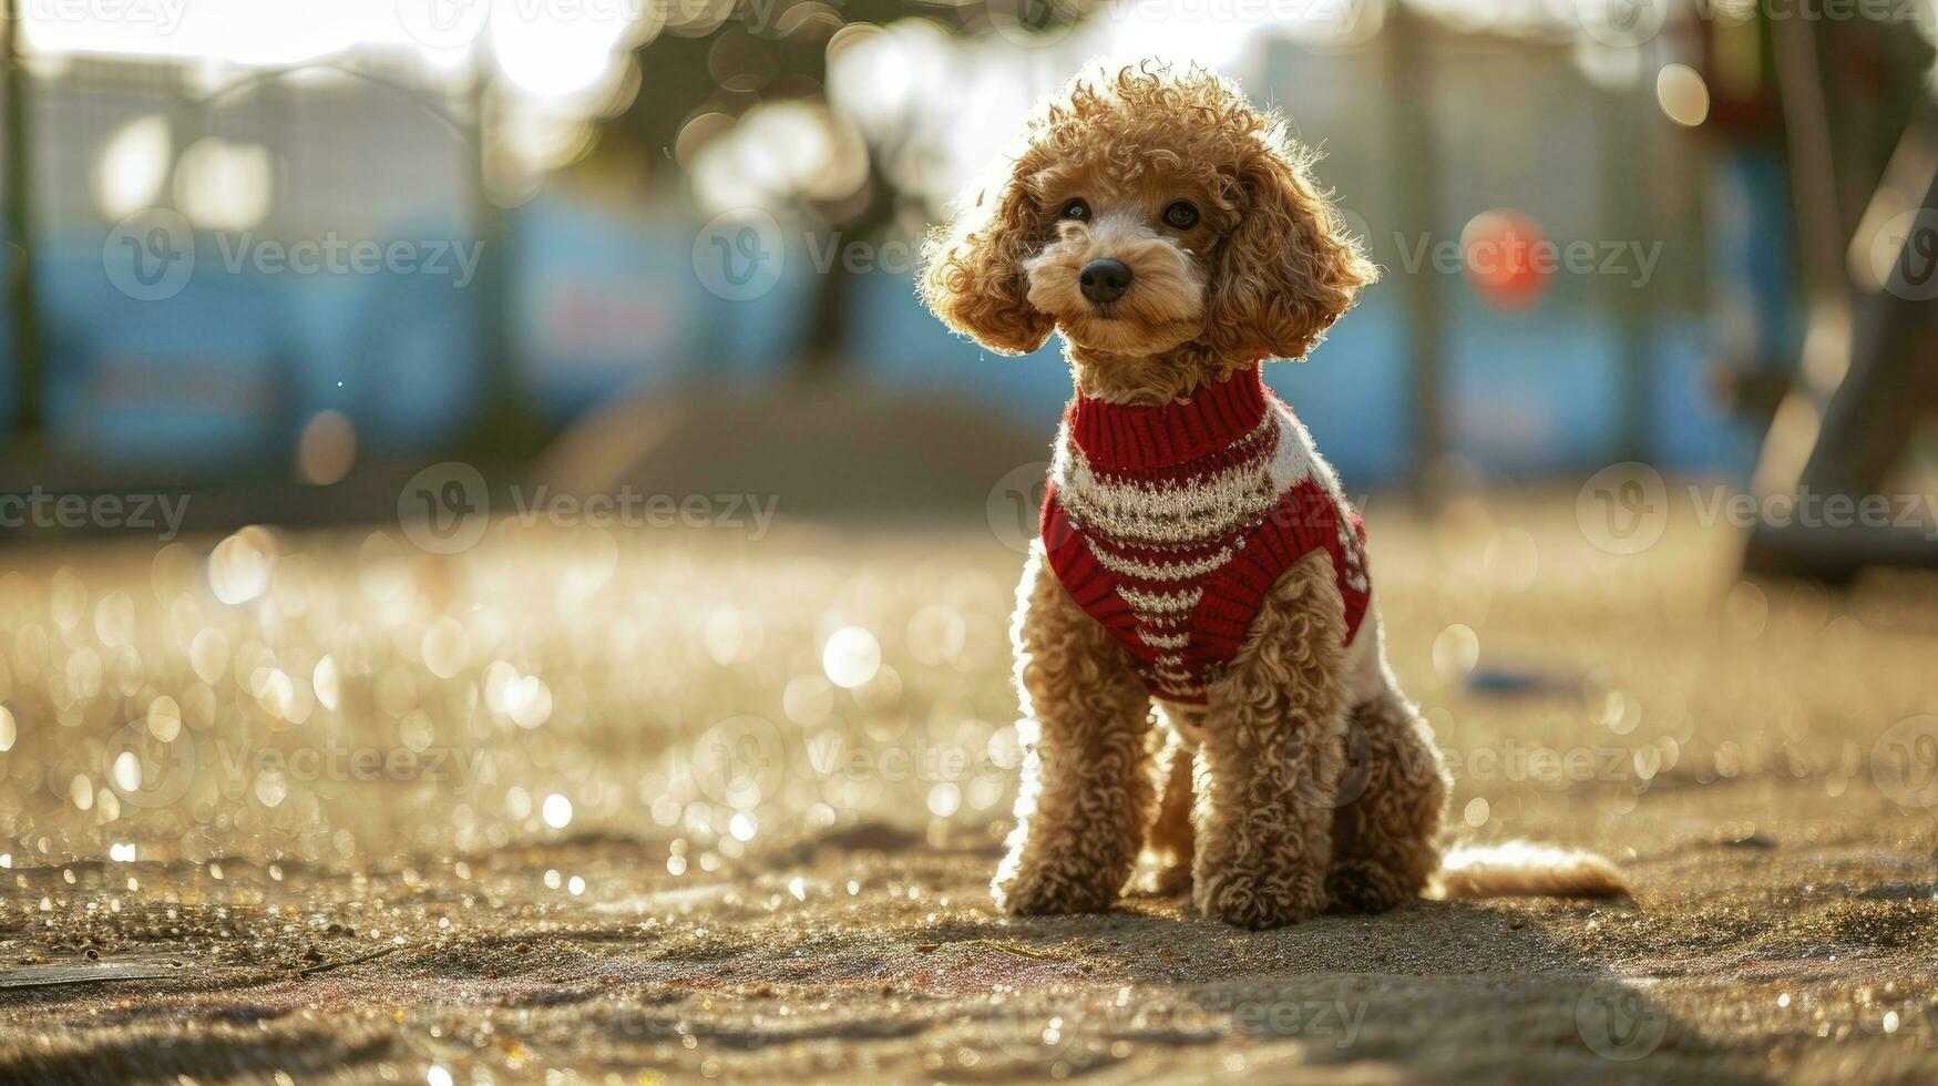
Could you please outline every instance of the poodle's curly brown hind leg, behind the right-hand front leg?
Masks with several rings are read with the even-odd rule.
[[[1440,867],[1452,782],[1419,708],[1399,692],[1386,661],[1376,663],[1376,692],[1347,723],[1347,770],[1333,811],[1326,890],[1339,911],[1384,911],[1417,898]]]

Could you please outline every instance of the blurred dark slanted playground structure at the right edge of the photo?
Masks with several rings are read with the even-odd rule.
[[[1876,128],[1899,103],[1851,93],[1824,66],[1826,35],[1806,25],[1775,33],[1810,304],[1797,380],[1771,419],[1754,487],[1781,495],[1779,508],[1806,496],[1859,508],[1903,479],[1917,427],[1938,401],[1938,112],[1917,87],[1882,165],[1839,153],[1839,126]],[[1744,566],[1835,584],[1866,566],[1938,568],[1932,526],[1890,520],[1766,516]]]

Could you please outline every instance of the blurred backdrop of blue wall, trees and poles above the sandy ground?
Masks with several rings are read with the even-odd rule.
[[[17,0],[0,489],[300,483],[279,508],[368,514],[360,473],[572,448],[605,483],[667,434],[558,446],[576,425],[822,382],[1041,444],[1058,347],[983,359],[909,283],[1097,54],[1213,64],[1324,147],[1388,281],[1271,382],[1355,489],[1748,479],[1785,394],[1835,386],[1804,339],[1876,291],[1930,159],[1930,4],[1777,8]]]

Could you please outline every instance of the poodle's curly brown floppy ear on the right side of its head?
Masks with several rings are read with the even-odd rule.
[[[1380,270],[1279,132],[1238,163],[1233,200],[1240,219],[1219,248],[1205,341],[1231,359],[1302,359]]]

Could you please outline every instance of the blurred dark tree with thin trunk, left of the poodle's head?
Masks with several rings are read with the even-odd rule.
[[[986,0],[921,4],[915,0],[686,0],[674,4],[669,25],[634,52],[640,93],[597,132],[599,155],[643,153],[653,184],[680,178],[672,167],[688,159],[682,142],[719,136],[748,111],[771,103],[826,107],[829,43],[851,27],[888,25],[921,17],[953,35],[996,25],[1017,33],[1060,33],[1091,12],[1091,0]],[[713,132],[688,132],[705,114],[723,114]],[[705,124],[698,128],[707,128]],[[884,163],[899,153],[907,134],[872,132],[866,176],[841,198],[791,194],[826,229],[820,252],[833,244],[882,240],[907,196]],[[676,167],[674,167],[676,169]],[[826,376],[841,367],[853,310],[855,272],[835,258],[816,279],[814,308],[802,341],[800,374]]]

